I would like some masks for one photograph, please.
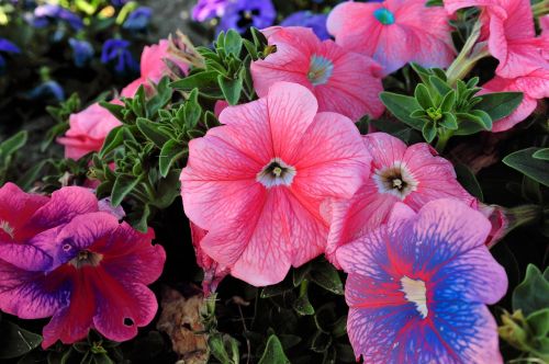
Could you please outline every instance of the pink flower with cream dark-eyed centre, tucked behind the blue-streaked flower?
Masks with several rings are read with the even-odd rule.
[[[370,179],[351,200],[332,205],[326,255],[336,266],[336,249],[386,223],[399,202],[414,211],[442,197],[477,206],[477,200],[456,180],[452,164],[438,157],[428,144],[406,147],[402,140],[384,133],[369,134],[363,140],[372,157]]]

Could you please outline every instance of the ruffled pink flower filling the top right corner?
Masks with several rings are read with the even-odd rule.
[[[529,0],[445,0],[450,13],[468,7],[482,9],[480,39],[488,39],[490,54],[500,60],[497,76],[516,78],[547,67],[549,38],[536,37]]]

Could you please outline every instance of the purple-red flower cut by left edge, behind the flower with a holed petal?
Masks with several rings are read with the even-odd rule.
[[[0,259],[27,270],[48,269],[53,259],[33,247],[35,237],[98,211],[98,201],[87,189],[65,187],[46,197],[7,183],[0,187]]]

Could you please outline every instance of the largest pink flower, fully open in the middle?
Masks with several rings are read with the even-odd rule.
[[[317,109],[305,87],[279,82],[225,109],[223,126],[189,144],[181,195],[187,216],[209,231],[201,247],[256,286],[325,250],[323,203],[350,198],[368,173],[352,122]]]

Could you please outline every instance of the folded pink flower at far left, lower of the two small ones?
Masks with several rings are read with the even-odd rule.
[[[120,100],[112,103],[120,104]],[[122,123],[107,109],[94,103],[69,118],[70,128],[57,143],[65,146],[65,157],[80,159],[91,151],[99,151],[109,133]]]

